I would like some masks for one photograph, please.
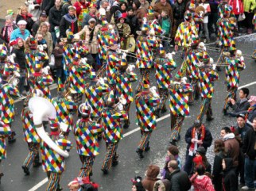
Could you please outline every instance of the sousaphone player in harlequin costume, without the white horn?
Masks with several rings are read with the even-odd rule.
[[[70,151],[72,143],[60,135],[60,124],[52,120],[50,123],[50,139],[56,143],[60,149],[64,151]],[[59,155],[56,151],[52,150],[47,143],[41,141],[41,155],[43,170],[47,173],[48,177],[48,191],[61,190],[60,188],[60,177],[65,170],[64,157]]]

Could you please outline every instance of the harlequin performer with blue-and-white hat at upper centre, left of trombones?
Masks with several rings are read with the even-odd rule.
[[[158,43],[156,37],[153,36],[154,32],[150,31],[151,34],[149,36],[149,25],[147,21],[143,21],[142,24],[142,35],[138,36],[136,41],[137,47],[137,61],[136,67],[140,70],[142,75],[141,79],[138,82],[138,86],[136,88],[136,92],[140,92],[143,86],[143,78],[149,79],[150,69],[153,67],[153,48],[158,47]]]

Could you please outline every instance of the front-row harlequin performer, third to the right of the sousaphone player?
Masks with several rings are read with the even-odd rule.
[[[149,151],[149,138],[157,126],[154,109],[160,104],[159,94],[152,88],[149,80],[143,79],[142,91],[135,96],[135,107],[138,126],[141,128],[142,139],[138,143],[136,152],[143,158],[143,151]]]

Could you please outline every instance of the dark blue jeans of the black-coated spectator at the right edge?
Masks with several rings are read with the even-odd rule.
[[[256,172],[256,160],[246,156],[244,162],[244,179],[248,188],[254,188],[254,176]]]

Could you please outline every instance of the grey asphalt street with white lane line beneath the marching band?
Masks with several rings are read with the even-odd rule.
[[[241,72],[240,86],[248,86],[250,89],[250,95],[256,95],[256,62],[250,59],[250,55],[256,47],[256,35],[239,37],[236,39],[237,48],[242,50],[245,57],[246,69]],[[214,44],[208,45],[208,47],[214,47]],[[208,53],[216,61],[219,57],[218,51],[208,50]],[[174,55],[174,59],[180,67],[181,59],[180,53]],[[177,70],[176,70],[177,71]],[[173,71],[173,74],[176,73]],[[138,71],[136,71],[138,74]],[[155,85],[153,71],[150,74],[151,82]],[[135,82],[133,86],[135,87],[137,83]],[[52,96],[56,96],[56,90],[52,90]],[[212,109],[215,120],[211,122],[205,121],[206,127],[210,128],[212,136],[214,139],[219,139],[220,128],[224,126],[230,126],[235,124],[235,118],[224,117],[221,113],[223,108],[224,97],[227,96],[227,89],[224,84],[224,71],[219,72],[219,81],[215,82],[215,95],[212,100]],[[180,149],[180,156],[184,162],[184,153],[186,149],[186,143],[184,143],[184,133],[187,128],[189,128],[196,116],[200,112],[200,100],[195,101],[194,105],[190,107],[191,116],[184,120],[183,128],[181,130],[181,139],[178,143]],[[20,120],[22,109],[22,101],[17,101],[15,103],[15,121],[13,123],[14,131],[17,133],[17,141],[12,144],[7,143],[7,159],[1,162],[1,171],[5,174],[2,177],[2,184],[0,185],[0,191],[33,191],[33,190],[45,190],[47,185],[47,179],[45,172],[38,168],[31,168],[30,175],[25,176],[23,170],[21,169],[22,162],[24,161],[26,155],[28,155],[29,150],[27,144],[23,140],[22,135],[22,124]],[[146,166],[149,164],[156,164],[158,166],[164,165],[165,154],[167,148],[169,147],[169,136],[170,136],[170,118],[169,112],[161,113],[161,117],[157,121],[157,129],[153,132],[150,138],[150,151],[145,153],[144,159],[139,159],[135,150],[137,144],[140,140],[140,132],[138,131],[138,126],[135,124],[135,107],[134,103],[130,108],[130,128],[124,129],[123,133],[125,137],[120,141],[118,146],[119,164],[118,166],[112,167],[109,174],[103,175],[100,170],[103,158],[105,155],[106,147],[103,140],[100,142],[100,154],[95,159],[95,165],[93,166],[93,176],[92,181],[99,183],[99,190],[104,191],[128,191],[131,190],[130,179],[134,178],[135,175],[141,175],[144,177]],[[76,153],[76,143],[74,141],[74,136],[71,133],[70,139],[74,144],[72,151],[70,152],[70,157],[66,160],[66,170],[62,175],[60,185],[64,190],[68,190],[68,182],[76,178],[80,170],[80,159]],[[208,149],[208,159],[212,162],[213,148]]]

